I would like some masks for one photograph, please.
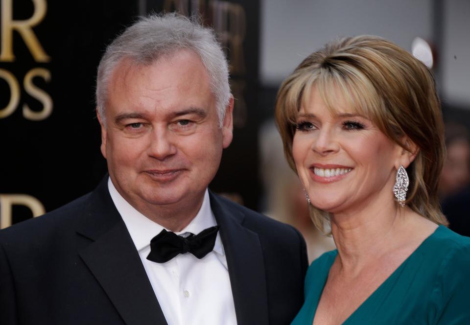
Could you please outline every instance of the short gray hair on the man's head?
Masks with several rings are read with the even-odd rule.
[[[209,74],[222,126],[231,96],[227,59],[211,28],[203,27],[198,18],[175,13],[140,18],[106,48],[96,77],[96,105],[103,122],[110,78],[123,59],[148,65],[184,49],[194,51]]]

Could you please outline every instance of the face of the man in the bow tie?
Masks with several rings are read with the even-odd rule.
[[[100,118],[101,152],[118,192],[145,214],[155,206],[199,206],[232,141],[233,100],[219,127],[209,76],[192,51],[148,66],[123,60]]]

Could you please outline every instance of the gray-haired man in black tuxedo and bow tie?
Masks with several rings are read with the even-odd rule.
[[[0,232],[0,323],[288,324],[302,236],[208,190],[234,105],[213,31],[141,19],[107,47],[96,102],[109,175]]]

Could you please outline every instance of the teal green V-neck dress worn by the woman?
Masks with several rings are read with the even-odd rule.
[[[292,325],[312,324],[337,253],[308,268]],[[470,324],[470,237],[439,226],[343,324]]]

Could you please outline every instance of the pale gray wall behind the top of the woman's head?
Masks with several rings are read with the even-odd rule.
[[[470,103],[470,0],[443,1],[443,97]],[[279,85],[336,37],[374,34],[411,50],[416,36],[433,40],[432,15],[433,0],[261,0],[261,84]]]

